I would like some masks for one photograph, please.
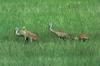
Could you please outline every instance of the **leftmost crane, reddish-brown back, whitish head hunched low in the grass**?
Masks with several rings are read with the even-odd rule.
[[[28,30],[26,30],[25,27],[23,27],[22,29],[16,29],[16,35],[17,36],[23,36],[25,38],[25,40],[30,40],[31,42],[32,41],[35,41],[35,40],[38,40],[38,36]]]

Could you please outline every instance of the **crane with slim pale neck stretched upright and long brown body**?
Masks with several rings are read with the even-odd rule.
[[[63,31],[56,31],[56,30],[53,30],[52,29],[52,23],[49,23],[49,30],[52,32],[52,33],[54,33],[55,35],[57,35],[59,38],[61,38],[61,39],[69,39],[70,38],[70,36],[69,36],[69,34],[67,34],[67,33],[65,33],[65,32],[63,32]]]

